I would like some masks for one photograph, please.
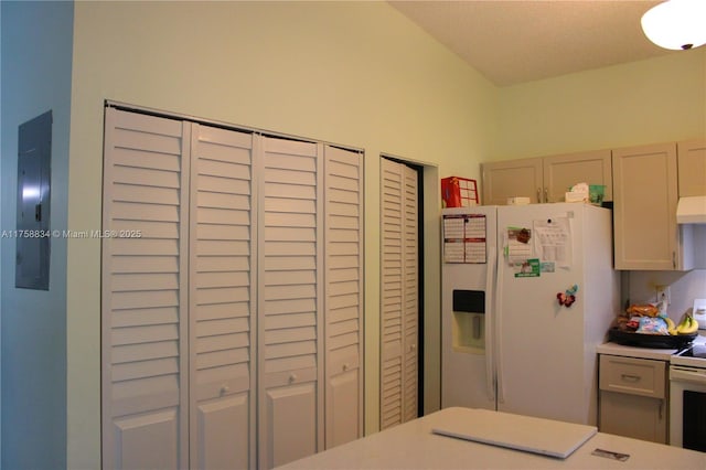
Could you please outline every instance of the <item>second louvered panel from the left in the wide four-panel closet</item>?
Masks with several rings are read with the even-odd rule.
[[[193,125],[191,468],[255,468],[253,135]]]

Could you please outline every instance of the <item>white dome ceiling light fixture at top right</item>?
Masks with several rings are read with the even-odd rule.
[[[706,0],[668,0],[642,15],[642,31],[660,47],[687,50],[706,43]]]

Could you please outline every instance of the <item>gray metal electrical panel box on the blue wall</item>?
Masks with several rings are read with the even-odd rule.
[[[49,290],[52,111],[20,125],[14,286]]]

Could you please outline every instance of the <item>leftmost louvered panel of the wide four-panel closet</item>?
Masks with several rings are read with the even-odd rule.
[[[189,126],[106,110],[103,456],[108,469],[188,461]]]

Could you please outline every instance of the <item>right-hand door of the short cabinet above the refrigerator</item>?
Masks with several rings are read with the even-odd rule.
[[[544,202],[563,202],[565,193],[576,183],[603,184],[603,201],[612,201],[610,150],[545,157]]]

